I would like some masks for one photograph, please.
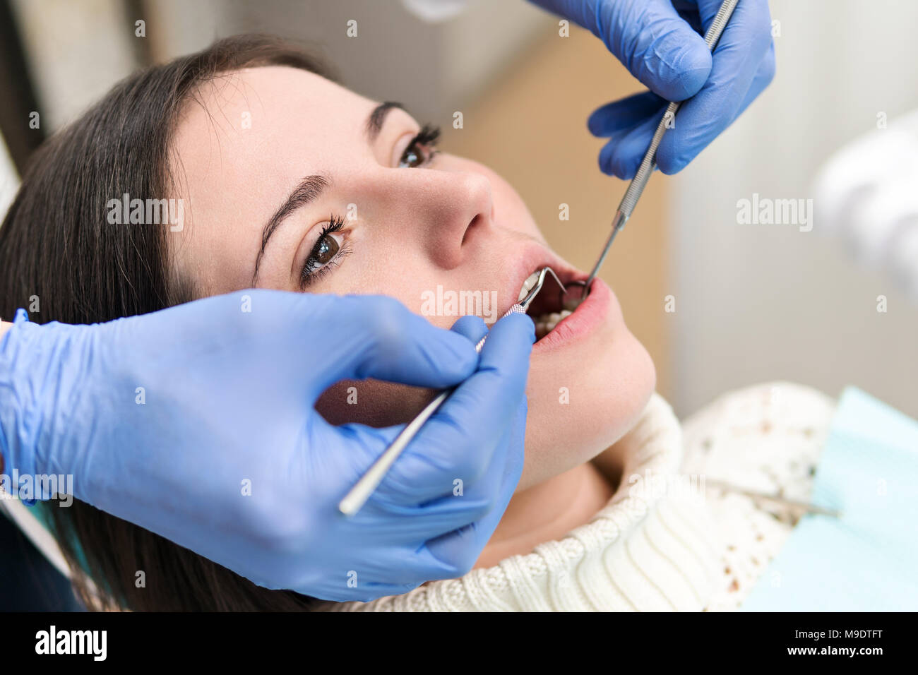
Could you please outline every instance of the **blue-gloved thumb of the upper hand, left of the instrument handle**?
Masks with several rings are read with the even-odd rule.
[[[670,0],[532,0],[603,41],[657,96],[684,101],[711,73],[711,51]]]

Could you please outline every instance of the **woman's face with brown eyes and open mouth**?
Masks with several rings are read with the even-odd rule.
[[[586,278],[548,248],[512,187],[487,166],[431,156],[399,107],[281,66],[218,78],[201,99],[176,130],[185,227],[170,233],[173,264],[201,296],[249,287],[384,294],[449,328],[458,310],[494,321],[546,264],[565,283]],[[557,295],[546,285],[542,309],[558,311]],[[321,345],[310,349],[324,358]],[[349,405],[351,385],[319,400],[331,422],[405,422],[430,399],[370,381],[356,385],[359,404]],[[533,347],[518,490],[618,440],[654,387],[650,357],[598,279]]]

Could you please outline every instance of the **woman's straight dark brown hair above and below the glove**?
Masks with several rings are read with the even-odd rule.
[[[113,228],[106,203],[125,193],[168,197],[169,151],[182,108],[202,84],[267,65],[336,79],[315,56],[280,39],[220,39],[130,75],[45,142],[0,227],[0,316],[11,317],[33,295],[41,311],[32,321],[67,323],[111,321],[192,299],[190,285],[169,274],[165,229]],[[90,609],[303,610],[315,602],[256,586],[84,502],[49,512],[74,587]],[[148,588],[135,585],[140,569]]]

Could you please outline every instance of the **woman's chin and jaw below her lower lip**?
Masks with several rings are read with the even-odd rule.
[[[583,354],[533,356],[526,460],[517,491],[588,462],[632,429],[656,386],[654,362],[623,329],[585,367]]]

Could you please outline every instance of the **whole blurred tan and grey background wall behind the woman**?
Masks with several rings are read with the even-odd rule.
[[[9,0],[42,132],[60,127],[142,62],[260,30],[305,39],[356,91],[440,124],[444,148],[516,186],[559,253],[581,268],[604,242],[624,184],[599,174],[586,118],[642,87],[599,40],[522,0],[472,0],[428,24],[395,0]],[[866,11],[869,9],[869,11]],[[918,304],[841,242],[792,225],[740,225],[754,194],[812,198],[836,148],[918,108],[904,0],[774,0],[778,74],[731,129],[677,176],[656,175],[603,276],[654,356],[680,415],[730,388],[788,379],[837,395],[856,384],[918,415]],[[135,21],[145,38],[135,37]],[[356,38],[346,22],[357,21]],[[453,111],[464,129],[453,129]],[[24,133],[28,127],[23,125]],[[16,184],[0,153],[0,209]],[[567,204],[570,219],[559,220]],[[918,264],[916,261],[915,264]],[[877,297],[888,298],[886,312]],[[666,311],[666,297],[675,311]]]

